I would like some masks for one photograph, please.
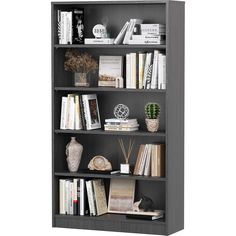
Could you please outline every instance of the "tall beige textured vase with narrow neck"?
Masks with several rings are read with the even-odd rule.
[[[70,172],[78,171],[83,146],[76,141],[75,137],[71,137],[71,141],[66,145],[66,160]]]

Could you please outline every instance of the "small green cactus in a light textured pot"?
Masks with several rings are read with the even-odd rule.
[[[156,132],[159,128],[160,105],[158,103],[147,103],[145,105],[146,125],[149,132]]]

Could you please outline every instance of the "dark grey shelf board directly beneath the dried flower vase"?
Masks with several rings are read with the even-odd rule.
[[[103,88],[103,87],[55,87],[55,91],[77,92],[128,92],[128,93],[165,93],[165,89],[126,89],[126,88]]]

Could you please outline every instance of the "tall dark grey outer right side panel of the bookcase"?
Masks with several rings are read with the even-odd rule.
[[[184,228],[184,2],[167,3],[167,234]]]

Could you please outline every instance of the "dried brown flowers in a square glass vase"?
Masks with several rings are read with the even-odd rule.
[[[89,73],[94,73],[98,68],[97,61],[88,53],[76,50],[67,50],[64,68],[74,72],[74,86],[90,86]]]

